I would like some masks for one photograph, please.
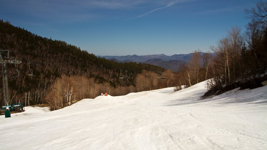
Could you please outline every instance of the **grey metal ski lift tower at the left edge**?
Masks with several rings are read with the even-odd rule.
[[[20,64],[20,58],[9,57],[9,50],[0,50],[0,63],[2,64],[2,76],[3,76],[3,89],[4,89],[4,100],[5,105],[9,106],[9,95],[8,95],[8,72],[6,64]]]

